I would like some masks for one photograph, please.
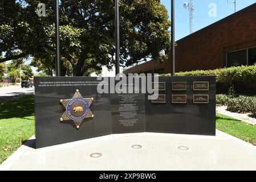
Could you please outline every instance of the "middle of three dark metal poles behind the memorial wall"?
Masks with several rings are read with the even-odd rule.
[[[115,4],[115,22],[116,22],[116,75],[120,73],[120,32],[119,32],[119,0]]]

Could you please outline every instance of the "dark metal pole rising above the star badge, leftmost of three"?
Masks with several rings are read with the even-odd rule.
[[[56,36],[56,52],[55,52],[55,73],[60,76],[60,43],[59,43],[59,0],[55,0],[55,36]]]

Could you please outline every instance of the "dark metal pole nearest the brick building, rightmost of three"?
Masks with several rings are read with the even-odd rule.
[[[175,11],[174,11],[174,0],[171,0],[172,1],[172,12],[171,12],[171,48],[170,48],[170,65],[171,65],[171,75],[172,76],[175,76],[175,22],[174,22],[174,14],[175,14]]]

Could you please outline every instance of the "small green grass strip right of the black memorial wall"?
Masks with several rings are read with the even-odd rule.
[[[218,114],[217,129],[256,146],[256,126]]]

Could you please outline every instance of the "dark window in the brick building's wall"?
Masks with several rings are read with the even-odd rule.
[[[227,67],[256,64],[256,47],[227,53]]]

